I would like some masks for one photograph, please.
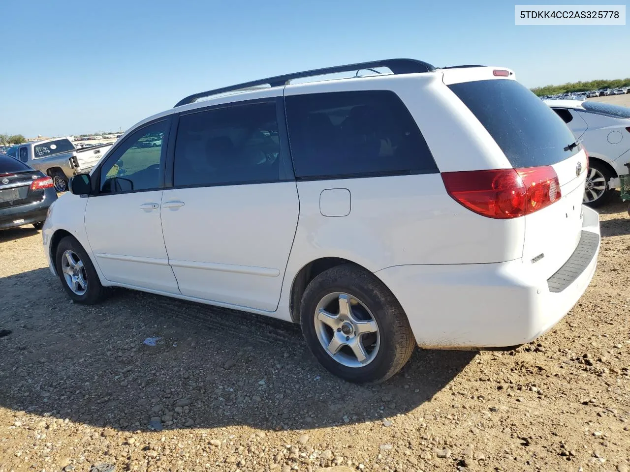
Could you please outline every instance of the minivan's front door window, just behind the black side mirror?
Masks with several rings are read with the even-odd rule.
[[[101,193],[159,188],[162,140],[168,121],[159,121],[129,135],[101,168]]]

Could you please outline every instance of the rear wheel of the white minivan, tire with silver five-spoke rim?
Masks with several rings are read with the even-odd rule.
[[[341,306],[350,306],[352,315]],[[320,309],[327,314],[316,315]],[[312,354],[329,372],[353,383],[386,381],[416,347],[396,297],[374,274],[354,264],[332,267],[312,279],[302,296],[300,318]],[[331,351],[336,351],[334,357]],[[359,359],[356,352],[366,357]]]

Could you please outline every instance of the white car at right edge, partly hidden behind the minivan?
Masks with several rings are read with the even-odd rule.
[[[598,101],[546,100],[588,152],[584,203],[603,205],[612,194],[609,181],[627,174],[630,161],[630,108]]]

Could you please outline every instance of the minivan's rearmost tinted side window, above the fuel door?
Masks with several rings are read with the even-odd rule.
[[[391,91],[288,96],[297,177],[437,172],[416,122]]]

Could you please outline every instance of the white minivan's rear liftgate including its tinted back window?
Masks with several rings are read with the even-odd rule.
[[[515,169],[552,166],[561,199],[525,215],[523,261],[545,278],[571,256],[581,236],[587,157],[563,120],[517,81],[450,84]]]

